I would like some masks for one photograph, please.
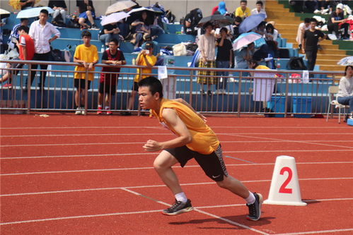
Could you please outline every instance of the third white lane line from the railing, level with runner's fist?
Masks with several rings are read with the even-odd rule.
[[[256,137],[250,137],[256,138]],[[259,137],[260,138],[260,137]],[[338,142],[347,143],[353,140],[234,140],[234,141],[221,141],[221,143],[321,143],[321,142]],[[32,144],[32,145],[1,145],[1,147],[33,147],[33,146],[70,146],[70,145],[137,145],[144,144],[145,142],[107,142],[107,143],[49,143],[49,144]],[[335,145],[330,145],[335,146]],[[340,146],[340,145],[338,145]]]

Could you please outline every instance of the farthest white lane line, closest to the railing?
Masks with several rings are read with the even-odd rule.
[[[298,128],[297,126],[210,126],[211,128]],[[16,129],[89,129],[89,128],[158,128],[158,129],[164,129],[161,126],[24,126],[24,127],[0,127],[1,130],[16,130]],[[302,128],[320,128],[320,129],[347,129],[346,127],[342,126],[301,126]]]

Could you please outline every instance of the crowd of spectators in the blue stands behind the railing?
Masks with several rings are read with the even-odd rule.
[[[292,6],[295,6],[295,1],[292,2]],[[309,8],[313,6],[313,3],[316,3],[320,8],[325,8],[327,6],[334,6],[334,10],[331,11],[331,15],[328,22],[328,30],[330,32],[335,32],[336,35],[339,36],[340,32],[343,29],[342,39],[347,39],[349,37],[349,25],[346,23],[346,19],[343,13],[343,5],[337,4],[337,1],[303,1],[301,6],[306,6]],[[325,3],[324,3],[325,2]],[[35,0],[21,0],[21,9],[28,9],[34,6]],[[50,60],[50,42],[57,39],[60,36],[59,30],[55,26],[64,27],[66,26],[67,18],[67,6],[64,0],[53,1],[50,0],[48,6],[54,10],[52,13],[52,23],[48,23],[47,19],[49,14],[46,10],[41,11],[39,19],[35,20],[30,25],[28,37],[33,39],[34,49],[33,56],[23,55],[26,54],[27,51],[32,51],[28,46],[30,43],[28,40],[23,40],[23,38],[27,38],[25,35],[26,27],[28,25],[28,19],[22,18],[21,23],[15,25],[11,32],[11,37],[8,40],[8,45],[11,49],[18,49],[21,51],[20,58],[21,59],[33,59],[36,61],[49,61]],[[85,29],[98,29],[98,26],[95,24],[96,12],[93,6],[93,1],[91,0],[78,0],[76,1],[76,7],[78,9],[79,14],[76,16],[76,20],[81,30]],[[138,8],[139,4],[132,8]],[[131,10],[132,8],[127,9],[126,11]],[[154,5],[154,8],[158,8],[161,11],[164,11],[163,6],[158,4]],[[158,10],[159,11],[159,10]],[[166,12],[166,11],[164,11]],[[240,6],[236,8],[235,11],[229,12],[226,8],[226,4],[224,1],[220,1],[217,6],[212,9],[212,14],[220,14],[224,16],[229,16],[233,18],[233,21],[228,25],[216,25],[212,23],[206,23],[202,27],[199,27],[198,21],[202,18],[202,12],[199,8],[193,9],[188,13],[183,19],[183,29],[185,33],[192,34],[197,36],[197,47],[199,49],[199,62],[197,66],[200,68],[250,68],[250,61],[256,61],[259,65],[266,65],[270,68],[274,68],[273,63],[267,63],[267,57],[276,58],[279,56],[279,48],[277,43],[277,38],[279,37],[279,32],[274,28],[274,22],[267,22],[267,14],[263,8],[262,1],[256,2],[256,7],[250,10],[248,8],[248,1],[241,0]],[[257,24],[251,32],[256,32],[257,34],[262,35],[265,40],[265,44],[262,44],[261,47],[255,48],[254,43],[250,43],[247,46],[233,51],[233,47],[231,42],[236,40],[241,32],[239,31],[239,26],[245,20],[245,18],[250,17],[256,14],[263,14],[265,16],[264,20]],[[141,49],[141,52],[138,54],[136,59],[136,64],[145,66],[146,68],[142,69],[142,73],[151,73],[151,67],[154,65],[163,64],[163,59],[161,58],[160,47],[158,46],[158,42],[154,39],[158,37],[158,35],[165,33],[166,28],[164,24],[168,20],[164,17],[163,14],[154,14],[151,11],[141,11],[136,16],[120,20],[116,23],[110,23],[108,25],[104,25],[103,29],[99,33],[99,40],[105,45],[106,50],[103,51],[102,62],[105,64],[126,64],[125,57],[120,50],[118,50],[119,44],[122,40],[127,42],[131,42],[134,46],[134,49]],[[313,18],[306,18],[303,23],[299,25],[298,33],[296,37],[296,41],[299,44],[299,49],[303,53],[306,54],[308,59],[308,69],[313,70],[316,63],[316,54],[317,50],[320,49],[320,45],[318,42],[320,40],[324,40],[326,35],[321,32],[316,27],[316,20]],[[20,29],[21,28],[21,32]],[[217,30],[218,28],[218,30]],[[22,40],[20,40],[20,35],[24,35]],[[85,31],[86,33],[86,31]],[[82,35],[83,45],[80,45],[76,48],[76,52],[74,54],[74,61],[83,64],[83,66],[76,66],[75,70],[78,71],[75,73],[75,78],[83,78],[83,71],[86,69],[92,70],[93,65],[98,62],[96,58],[96,49],[93,50],[94,47],[89,43],[91,40],[91,35]],[[12,40],[14,38],[14,40]],[[86,42],[88,41],[88,42]],[[86,52],[86,49],[90,48]],[[217,49],[217,50],[216,50]],[[116,50],[119,52],[117,53]],[[93,52],[94,51],[94,52]],[[216,53],[217,51],[217,53]],[[121,52],[121,54],[120,54]],[[83,56],[83,54],[86,56]],[[118,54],[117,56],[115,56]],[[88,56],[87,56],[88,55]],[[82,57],[83,56],[83,57]],[[117,58],[117,59],[116,59]],[[21,65],[20,65],[21,66]],[[37,68],[36,64],[32,65],[32,68]],[[40,65],[41,73],[38,87],[40,90],[43,90],[45,84],[45,77],[47,66]],[[81,71],[81,73],[79,73]],[[108,70],[109,71],[109,70]],[[104,71],[105,74],[108,71]],[[139,71],[137,71],[139,73]],[[91,76],[93,74],[90,73],[90,77],[88,80],[92,80]],[[30,84],[33,83],[35,78],[35,71],[32,71],[29,76],[29,81],[27,80],[25,83],[24,90],[28,88],[28,82]],[[132,93],[129,97],[129,104],[127,109],[133,109],[134,98],[137,93],[136,83],[143,79],[139,77],[139,74],[134,78],[134,86],[132,87]],[[216,92],[224,93],[226,92],[228,73],[226,72],[215,72],[212,70],[207,71],[199,71],[197,73],[197,83],[200,85],[200,92],[202,94],[212,95],[212,85],[216,85]],[[6,73],[3,78],[1,78],[0,82],[4,82],[5,80],[9,80],[9,85],[11,85],[11,74]],[[78,80],[79,83],[76,84],[75,87],[77,89],[75,94],[75,102],[78,107],[77,113],[82,112],[81,106],[82,102],[84,102],[85,97],[83,97],[84,89],[86,88],[86,84],[81,83],[81,80]],[[103,79],[103,81],[106,81]],[[100,80],[102,82],[102,79]],[[105,83],[105,82],[104,82]],[[109,79],[108,83],[112,85],[112,87],[116,87],[117,79]],[[205,88],[206,85],[206,88]],[[90,84],[88,83],[88,89],[90,88]],[[102,85],[100,87],[100,97],[98,98],[100,104],[98,107],[102,109],[109,109],[108,103],[110,102],[111,95],[115,93],[112,92],[111,88],[105,87]],[[105,104],[103,104],[103,94],[107,94],[105,97]],[[103,104],[103,105],[102,105]],[[101,113],[101,111],[100,111]],[[107,112],[108,114],[110,112]],[[129,115],[129,112],[126,112]]]

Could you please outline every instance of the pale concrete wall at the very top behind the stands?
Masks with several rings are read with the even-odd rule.
[[[265,4],[265,0],[262,1]],[[104,15],[105,9],[115,2],[115,0],[93,0],[93,6],[96,8],[97,16]],[[200,8],[204,16],[209,16],[211,15],[212,8],[219,4],[217,0],[137,0],[137,2],[141,6],[150,6],[158,2],[163,5],[166,10],[171,10],[176,16],[177,21],[194,8]],[[235,9],[240,6],[240,0],[226,0],[225,2],[226,8],[230,12],[235,11]],[[250,9],[255,8],[255,2],[255,0],[248,0],[248,7]],[[42,0],[37,5],[47,6],[47,3],[48,0]],[[71,13],[76,10],[76,0],[66,0],[66,5]],[[13,11],[11,6],[8,6],[8,0],[0,0],[0,8]]]

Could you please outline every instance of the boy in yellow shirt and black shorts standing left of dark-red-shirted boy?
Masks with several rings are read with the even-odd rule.
[[[86,100],[86,81],[89,90],[93,80],[93,73],[88,73],[88,78],[86,78],[86,71],[94,71],[94,65],[98,63],[98,51],[97,47],[91,44],[91,32],[85,30],[81,37],[83,44],[76,47],[74,54],[74,62],[81,64],[75,67],[76,72],[74,73],[76,115],[86,114],[83,108]]]

